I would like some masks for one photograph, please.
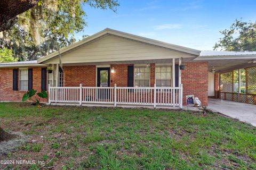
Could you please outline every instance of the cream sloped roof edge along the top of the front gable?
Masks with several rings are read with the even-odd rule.
[[[92,35],[90,37],[87,37],[87,38],[85,38],[81,41],[78,41],[77,43],[69,45],[65,48],[61,48],[60,53],[61,54],[66,53],[71,49],[77,48],[77,47],[79,47],[79,46],[81,46],[85,43],[89,43],[90,41],[93,41],[93,40],[95,40],[95,39],[97,39],[101,36],[107,35],[107,34],[115,35],[115,36],[123,37],[123,38],[127,38],[127,39],[132,39],[132,40],[135,40],[135,41],[140,41],[142,43],[146,43],[146,44],[150,44],[150,45],[169,48],[169,49],[172,49],[172,50],[177,50],[179,52],[188,53],[188,54],[195,55],[195,56],[199,56],[199,54],[201,52],[200,50],[187,48],[187,47],[183,47],[183,46],[178,46],[178,45],[174,45],[174,44],[169,44],[169,43],[164,43],[162,41],[158,41],[158,40],[154,40],[154,39],[150,39],[150,38],[145,38],[145,37],[140,37],[140,36],[135,36],[135,35],[132,35],[130,33],[121,32],[121,31],[106,28],[106,29],[104,29],[104,30],[102,30],[98,33],[95,33],[94,35]],[[39,58],[37,60],[37,63],[43,63],[43,62],[45,62],[47,60],[50,60],[51,58],[56,57],[58,55],[59,55],[58,51],[54,52],[50,55]]]

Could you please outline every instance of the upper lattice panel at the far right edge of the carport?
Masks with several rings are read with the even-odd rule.
[[[256,94],[256,67],[247,69],[247,94]]]

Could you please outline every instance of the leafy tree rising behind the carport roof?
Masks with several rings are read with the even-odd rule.
[[[256,50],[256,22],[236,20],[229,29],[220,31],[223,38],[213,47],[214,50],[227,51],[255,51]]]

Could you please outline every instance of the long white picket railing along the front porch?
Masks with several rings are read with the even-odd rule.
[[[50,87],[49,104],[79,103],[173,106],[182,108],[180,87]]]

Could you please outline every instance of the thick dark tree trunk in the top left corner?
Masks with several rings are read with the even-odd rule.
[[[17,22],[17,15],[35,6],[39,0],[0,0],[0,32]]]

